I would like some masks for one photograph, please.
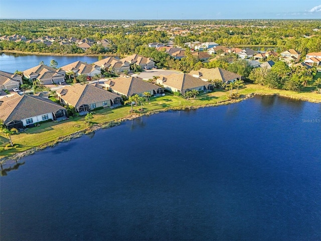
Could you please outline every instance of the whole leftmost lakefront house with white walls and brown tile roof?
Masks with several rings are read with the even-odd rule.
[[[12,124],[17,123],[26,127],[49,119],[57,120],[67,117],[66,108],[48,98],[15,93],[8,99],[0,100],[0,119],[8,128],[12,128]]]

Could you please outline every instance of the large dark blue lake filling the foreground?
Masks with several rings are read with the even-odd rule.
[[[321,105],[144,116],[1,177],[1,240],[320,240]]]

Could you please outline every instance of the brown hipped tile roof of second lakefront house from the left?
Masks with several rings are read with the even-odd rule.
[[[74,107],[119,98],[117,94],[90,84],[66,86],[56,92],[65,102]]]

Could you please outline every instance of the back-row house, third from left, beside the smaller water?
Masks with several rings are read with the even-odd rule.
[[[96,64],[87,64],[82,61],[76,61],[71,64],[62,66],[61,69],[65,72],[74,72],[75,76],[84,74],[87,76],[94,76],[95,74],[100,74],[100,66]]]

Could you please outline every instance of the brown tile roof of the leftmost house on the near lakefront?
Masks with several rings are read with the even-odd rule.
[[[0,105],[0,119],[3,119],[5,124],[64,109],[49,99],[32,95],[15,94],[11,98],[3,98],[2,101],[4,102]]]

